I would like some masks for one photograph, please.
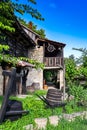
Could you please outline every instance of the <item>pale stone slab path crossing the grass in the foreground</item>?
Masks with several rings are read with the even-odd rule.
[[[61,118],[64,118],[68,121],[73,121],[76,117],[81,117],[81,118],[85,118],[87,119],[87,111],[84,112],[77,112],[77,113],[72,113],[72,114],[63,114],[62,116],[49,116],[49,118],[36,118],[35,119],[35,123],[36,123],[36,128],[34,129],[32,124],[29,124],[27,126],[25,126],[24,128],[26,128],[26,130],[46,130],[46,125],[47,122],[49,121],[49,123],[51,125],[57,126],[59,123],[59,120]]]

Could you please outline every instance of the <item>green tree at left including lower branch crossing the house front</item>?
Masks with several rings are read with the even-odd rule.
[[[22,4],[22,2],[20,3],[20,0],[0,0],[0,38],[5,38],[5,36],[3,37],[2,35],[5,31],[15,31],[13,25],[15,20],[18,19],[16,13],[20,13],[21,15],[27,13],[36,19],[44,20],[44,18],[42,18],[41,14],[37,11],[37,9],[34,9],[32,7],[32,4],[36,4],[36,1],[26,0],[26,2],[27,4]],[[8,47],[0,45],[0,62],[4,60],[6,62],[12,62],[16,64],[19,59],[35,64],[36,67],[43,68],[43,64],[40,64],[37,61],[29,60],[28,58],[24,57],[16,58],[12,57],[11,55],[5,55],[3,53],[3,49],[8,49]]]

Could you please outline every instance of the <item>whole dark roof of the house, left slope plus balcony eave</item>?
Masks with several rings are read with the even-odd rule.
[[[45,43],[46,42],[52,43],[52,44],[56,44],[56,45],[59,45],[59,46],[62,46],[62,47],[65,47],[65,45],[66,45],[64,43],[49,40],[49,39],[46,39],[46,38],[42,39],[40,37],[40,35],[38,35],[37,33],[32,31],[31,29],[29,29],[28,27],[21,24],[16,18],[15,18],[15,23],[14,23],[13,26],[15,28],[15,32],[10,33],[8,31],[6,31],[5,33],[7,35],[9,35],[10,37],[12,37],[13,39],[20,41],[21,44],[23,44],[25,46],[36,46],[37,41],[45,42]]]

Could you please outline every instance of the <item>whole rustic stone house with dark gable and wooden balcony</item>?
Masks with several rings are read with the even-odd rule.
[[[45,64],[44,70],[29,67],[27,86],[33,83],[44,86],[65,87],[64,77],[64,43],[42,39],[32,29],[15,22],[15,33],[6,32],[6,44],[10,46],[10,54],[25,56]],[[4,43],[5,44],[5,43]]]

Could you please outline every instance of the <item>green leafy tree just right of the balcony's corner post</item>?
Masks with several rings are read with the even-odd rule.
[[[86,48],[74,49],[82,54],[78,59],[75,59],[72,55],[65,59],[65,77],[68,83],[75,82],[76,79],[87,79],[87,50]]]

